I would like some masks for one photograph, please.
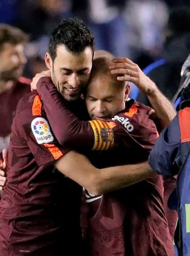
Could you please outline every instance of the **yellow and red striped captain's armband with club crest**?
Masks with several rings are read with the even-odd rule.
[[[113,146],[113,131],[109,122],[100,120],[89,121],[93,132],[95,143],[92,150],[107,150]]]

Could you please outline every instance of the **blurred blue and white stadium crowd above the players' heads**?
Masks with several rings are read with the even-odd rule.
[[[30,35],[24,76],[44,70],[53,27],[65,17],[82,18],[95,34],[96,49],[128,57],[143,69],[162,58],[169,13],[187,0],[0,0],[0,23]]]

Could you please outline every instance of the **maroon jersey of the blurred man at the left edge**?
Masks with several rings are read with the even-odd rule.
[[[20,77],[11,89],[0,93],[0,152],[4,148],[8,149],[17,104],[22,96],[30,92],[30,82],[30,79]]]

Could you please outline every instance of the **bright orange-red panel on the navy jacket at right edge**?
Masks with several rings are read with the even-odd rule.
[[[190,108],[179,111],[179,127],[181,142],[190,141]]]

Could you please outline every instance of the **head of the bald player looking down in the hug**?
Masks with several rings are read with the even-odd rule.
[[[99,57],[93,60],[91,75],[85,93],[85,102],[92,119],[112,118],[125,108],[129,87],[111,74],[112,58]]]

